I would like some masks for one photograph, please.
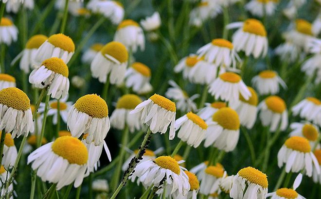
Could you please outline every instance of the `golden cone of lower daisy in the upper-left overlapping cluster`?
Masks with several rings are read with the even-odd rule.
[[[69,70],[68,66],[65,64],[65,62],[57,57],[52,57],[49,59],[46,59],[42,62],[42,66],[45,66],[47,69],[54,71],[55,73],[58,73],[64,77],[68,77]]]

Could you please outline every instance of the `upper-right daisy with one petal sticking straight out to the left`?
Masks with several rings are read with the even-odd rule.
[[[234,22],[227,28],[239,28],[233,34],[233,45],[236,51],[245,51],[246,56],[252,54],[254,58],[267,55],[267,31],[261,21],[249,18],[244,22]]]

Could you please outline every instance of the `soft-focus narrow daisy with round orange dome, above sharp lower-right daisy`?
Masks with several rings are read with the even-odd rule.
[[[278,96],[269,96],[258,105],[260,119],[263,126],[269,126],[271,132],[275,132],[278,127],[284,131],[288,124],[286,104]]]

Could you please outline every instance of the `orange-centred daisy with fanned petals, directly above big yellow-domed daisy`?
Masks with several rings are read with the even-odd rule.
[[[213,83],[210,84],[209,93],[215,99],[225,101],[235,101],[241,95],[248,100],[251,97],[251,92],[243,82],[241,76],[233,72],[225,72],[218,76]]]

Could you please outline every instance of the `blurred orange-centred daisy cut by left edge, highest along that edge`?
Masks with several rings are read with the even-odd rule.
[[[18,39],[18,29],[13,24],[13,22],[6,17],[1,18],[0,22],[0,44],[4,43],[8,46],[11,45],[13,41]]]

